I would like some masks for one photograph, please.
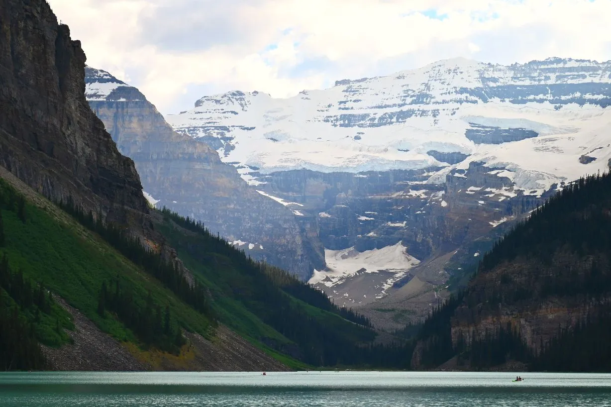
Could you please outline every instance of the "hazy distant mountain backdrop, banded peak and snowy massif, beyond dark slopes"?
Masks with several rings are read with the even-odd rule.
[[[90,106],[139,171],[151,174],[143,182],[154,205],[203,221],[384,329],[421,320],[447,296],[450,278],[460,281],[505,230],[611,158],[609,63],[451,59],[288,99],[241,91],[203,97],[191,111],[166,116],[169,125],[137,89],[87,72]],[[549,92],[533,93],[541,84]],[[152,128],[137,125],[143,113],[134,103],[152,112],[144,117],[155,115]],[[168,146],[163,161],[139,153],[151,149],[140,144],[158,129],[157,141]],[[177,149],[169,140],[178,139]],[[183,155],[207,148],[194,172],[202,159]],[[402,251],[419,266],[389,268],[385,255],[367,266],[331,259],[378,250]],[[382,298],[393,304],[390,314],[371,304]],[[389,315],[398,322],[389,325]]]

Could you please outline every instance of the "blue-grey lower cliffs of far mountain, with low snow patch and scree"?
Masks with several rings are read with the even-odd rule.
[[[477,256],[502,234],[506,224],[521,219],[552,193],[539,197],[524,194],[508,178],[499,177],[499,170],[482,163],[471,163],[466,171],[452,171],[443,184],[426,183],[428,174],[435,170],[359,174],[283,171],[258,178],[265,182],[258,188],[276,199],[301,205],[302,222],[315,220],[332,270],[315,273],[310,283],[340,305],[376,309],[379,307],[373,302],[386,295],[397,306],[392,297],[408,296],[405,292],[417,281],[429,290],[445,287],[452,273],[458,273],[465,263],[477,262]],[[385,260],[355,262],[343,252],[351,248],[383,259],[381,250],[399,242],[408,253],[406,263],[393,264],[390,269],[382,264]],[[446,259],[435,267],[423,267],[447,254],[452,264]],[[336,255],[340,258],[334,259]],[[409,255],[424,260],[423,264],[410,270]],[[359,273],[363,270],[370,273],[368,279]],[[413,277],[418,279],[410,284]],[[408,287],[395,295],[404,285]],[[420,292],[420,287],[415,290]],[[426,314],[431,299],[425,296],[422,302],[427,304],[422,309]],[[422,308],[414,303],[403,307]],[[374,320],[384,317],[363,308],[361,312]],[[398,329],[407,321],[384,325]]]

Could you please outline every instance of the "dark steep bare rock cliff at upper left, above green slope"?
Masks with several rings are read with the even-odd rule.
[[[45,1],[0,6],[0,165],[53,200],[141,227],[134,163],[84,97],[85,54]]]

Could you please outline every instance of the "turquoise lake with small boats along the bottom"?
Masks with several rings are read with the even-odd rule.
[[[513,383],[516,375],[524,381]],[[0,373],[0,406],[611,406],[611,375],[445,372]]]

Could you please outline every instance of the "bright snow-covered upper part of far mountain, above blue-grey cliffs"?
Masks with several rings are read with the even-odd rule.
[[[507,164],[519,188],[546,189],[583,174],[579,157],[601,144],[610,104],[611,62],[450,59],[287,99],[256,91],[203,97],[167,119],[239,163],[251,183],[252,172],[466,169],[478,160]],[[606,167],[610,152],[598,151],[592,167]],[[471,156],[447,163],[445,153]]]

